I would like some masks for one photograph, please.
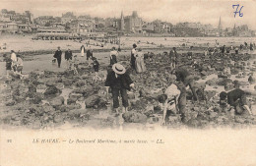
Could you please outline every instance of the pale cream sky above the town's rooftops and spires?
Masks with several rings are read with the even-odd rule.
[[[241,13],[234,17],[232,5],[239,4]],[[235,7],[236,8],[236,7]],[[179,22],[200,22],[217,27],[222,17],[224,28],[233,28],[234,24],[248,25],[256,29],[256,0],[0,0],[0,9],[23,13],[30,10],[34,17],[61,16],[65,12],[74,12],[76,16],[120,17],[137,11],[144,21],[156,19],[172,24]],[[238,10],[239,11],[239,10]]]

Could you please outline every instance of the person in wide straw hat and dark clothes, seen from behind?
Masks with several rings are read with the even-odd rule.
[[[107,75],[105,86],[110,86],[112,90],[113,109],[118,113],[118,96],[121,94],[123,107],[125,108],[125,111],[128,111],[129,104],[127,90],[134,88],[134,83],[122,65],[116,63],[112,66],[112,70],[113,71],[109,72]]]

